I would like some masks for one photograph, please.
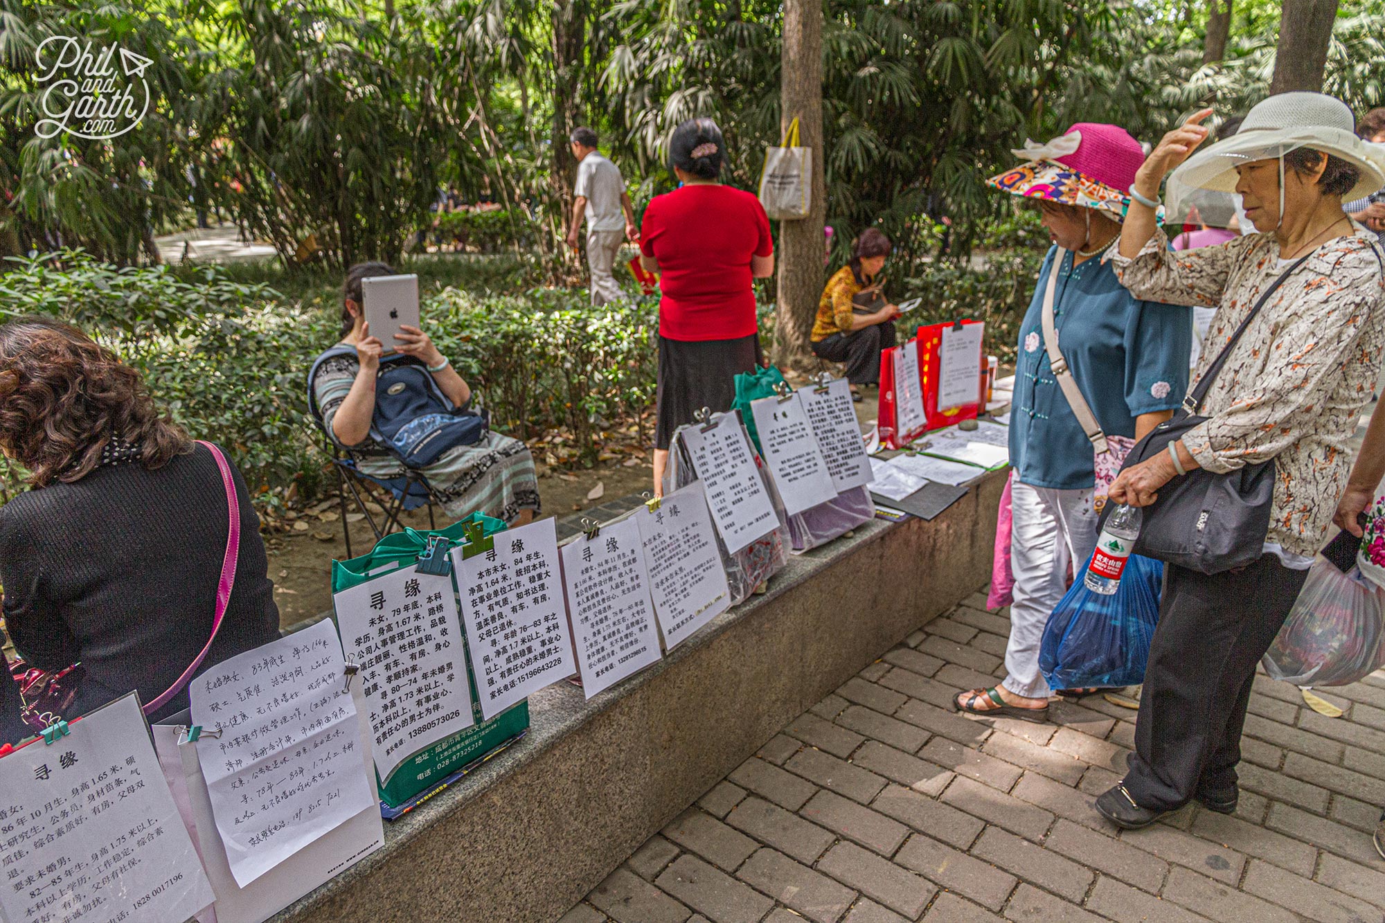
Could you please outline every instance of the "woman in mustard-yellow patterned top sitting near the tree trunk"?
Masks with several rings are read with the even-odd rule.
[[[875,227],[852,241],[852,259],[827,280],[809,337],[814,356],[846,363],[857,401],[857,385],[879,384],[879,353],[895,345],[899,308],[885,298],[879,277],[889,249],[889,238]]]

